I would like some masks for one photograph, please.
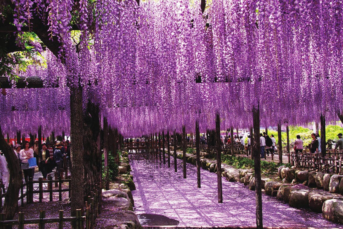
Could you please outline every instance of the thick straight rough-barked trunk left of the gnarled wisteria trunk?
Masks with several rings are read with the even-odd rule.
[[[76,216],[76,209],[83,212],[84,163],[83,163],[83,112],[82,88],[70,88],[70,140],[71,144],[71,216]],[[52,139],[51,139],[52,140]]]

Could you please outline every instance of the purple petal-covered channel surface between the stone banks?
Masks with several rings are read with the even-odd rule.
[[[201,169],[201,188],[197,188],[196,166],[187,163],[183,179],[182,161],[178,172],[146,160],[141,153],[130,154],[136,214],[158,214],[179,221],[179,226],[256,226],[255,192],[241,183],[223,179],[223,203],[217,203],[217,175]],[[167,161],[167,160],[166,160]],[[308,209],[289,207],[274,197],[262,194],[263,226],[322,227],[341,225]]]

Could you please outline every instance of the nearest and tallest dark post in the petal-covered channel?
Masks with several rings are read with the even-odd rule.
[[[261,157],[260,157],[260,108],[252,108],[254,128],[254,167],[255,167],[255,191],[256,191],[256,227],[263,228],[262,224],[262,182],[261,182]]]

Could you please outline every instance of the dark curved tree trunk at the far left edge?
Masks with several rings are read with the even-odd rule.
[[[20,138],[19,138],[20,139]],[[6,157],[10,181],[8,190],[5,194],[4,210],[6,220],[12,220],[16,210],[18,208],[18,197],[19,190],[22,183],[22,172],[19,165],[18,157],[13,153],[13,149],[7,144],[4,136],[2,135],[1,125],[0,125],[0,150],[3,152]],[[8,228],[11,228],[8,227]]]

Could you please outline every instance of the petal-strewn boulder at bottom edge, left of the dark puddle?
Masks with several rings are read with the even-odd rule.
[[[107,215],[106,215],[107,216]],[[104,229],[113,228],[130,228],[140,229],[142,228],[138,217],[133,211],[113,211],[110,214],[110,218],[97,218],[96,221],[100,221],[100,225],[104,225]]]

